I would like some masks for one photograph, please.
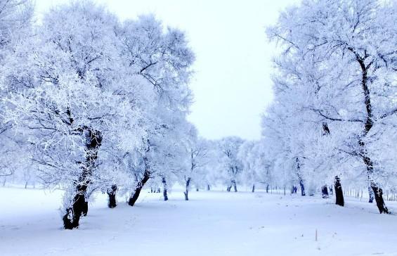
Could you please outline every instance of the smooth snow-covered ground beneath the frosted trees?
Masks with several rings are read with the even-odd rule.
[[[108,209],[98,196],[78,230],[61,229],[60,193],[0,188],[0,255],[397,255],[397,216],[347,198],[263,192],[144,191]],[[397,212],[397,205],[388,202]],[[318,241],[315,241],[315,230]]]

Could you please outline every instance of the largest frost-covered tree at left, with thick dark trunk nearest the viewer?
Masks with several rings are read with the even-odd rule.
[[[142,84],[124,68],[117,27],[114,15],[89,1],[58,6],[4,70],[6,122],[30,143],[44,183],[66,189],[65,229],[86,215],[107,149],[138,148],[145,136]]]

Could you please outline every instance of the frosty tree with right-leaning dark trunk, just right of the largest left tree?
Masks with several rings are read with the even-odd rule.
[[[186,130],[194,55],[183,32],[170,27],[164,30],[152,15],[126,20],[119,37],[131,72],[141,77],[153,95],[145,105],[143,151],[131,154],[140,162],[129,200],[134,205],[145,183],[155,177],[167,179],[171,169],[167,165],[178,157],[174,150],[182,146]]]

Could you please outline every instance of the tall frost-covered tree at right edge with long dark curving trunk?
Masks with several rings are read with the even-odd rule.
[[[370,184],[381,213],[389,212],[382,187],[395,186],[393,20],[394,2],[308,0],[268,30],[282,48],[273,108],[289,117],[281,128],[287,132],[280,132],[287,142],[282,148],[290,151],[285,159],[295,158],[298,178],[314,186],[330,173],[336,180],[360,177],[354,182]]]

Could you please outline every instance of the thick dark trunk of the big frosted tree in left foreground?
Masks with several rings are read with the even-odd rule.
[[[86,202],[86,190],[91,182],[93,169],[96,168],[96,160],[98,158],[98,150],[102,143],[102,134],[98,131],[92,131],[84,127],[82,133],[86,134],[86,161],[82,166],[82,173],[75,184],[74,198],[72,207],[66,209],[63,216],[64,229],[75,229],[79,226],[80,217],[86,216],[88,212],[88,202]]]

